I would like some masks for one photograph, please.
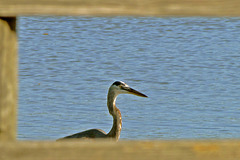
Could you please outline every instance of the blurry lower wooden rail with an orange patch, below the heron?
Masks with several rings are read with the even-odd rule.
[[[4,160],[239,160],[239,151],[239,140],[0,143]]]

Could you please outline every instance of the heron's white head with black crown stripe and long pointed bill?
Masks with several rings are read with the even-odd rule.
[[[114,91],[117,94],[133,94],[133,95],[140,96],[140,97],[147,97],[145,94],[129,87],[126,83],[124,83],[122,81],[114,82],[111,87],[114,88]]]

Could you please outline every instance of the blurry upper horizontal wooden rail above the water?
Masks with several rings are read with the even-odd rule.
[[[1,0],[0,16],[240,16],[238,0]]]

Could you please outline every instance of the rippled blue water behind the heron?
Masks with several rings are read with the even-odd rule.
[[[18,139],[111,129],[121,139],[240,138],[240,18],[20,17]]]

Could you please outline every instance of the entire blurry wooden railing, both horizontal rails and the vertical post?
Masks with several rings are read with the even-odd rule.
[[[240,140],[11,142],[16,140],[16,17],[240,16],[238,0],[0,0],[0,159],[240,159]]]

